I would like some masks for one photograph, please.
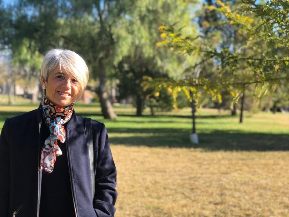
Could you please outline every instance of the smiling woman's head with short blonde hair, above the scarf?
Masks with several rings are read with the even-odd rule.
[[[81,97],[88,78],[85,61],[70,50],[51,50],[41,65],[44,95],[62,108]]]

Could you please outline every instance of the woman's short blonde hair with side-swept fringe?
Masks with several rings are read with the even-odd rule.
[[[71,50],[52,49],[44,57],[41,64],[41,76],[47,81],[49,73],[60,68],[75,78],[80,84],[78,98],[81,97],[89,78],[88,67],[84,59]]]

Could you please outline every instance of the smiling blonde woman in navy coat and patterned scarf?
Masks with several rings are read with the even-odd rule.
[[[107,131],[92,120],[93,182],[84,118],[73,109],[88,77],[73,51],[54,49],[44,57],[39,108],[7,119],[2,128],[1,217],[114,216],[116,168]]]

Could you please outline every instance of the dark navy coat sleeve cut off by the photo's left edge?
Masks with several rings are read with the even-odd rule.
[[[10,190],[9,123],[7,119],[0,135],[0,216],[8,216]]]

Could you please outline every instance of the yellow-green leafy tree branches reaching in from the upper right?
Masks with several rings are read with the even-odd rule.
[[[186,36],[174,25],[161,26],[161,34],[168,37],[160,45],[201,57],[201,64],[213,61],[215,73],[206,71],[198,78],[155,79],[152,85],[157,90],[176,92],[178,87],[189,88],[197,101],[197,93],[205,91],[220,102],[225,88],[232,95],[232,105],[240,97],[245,102],[245,90],[253,91],[256,98],[268,90],[273,92],[282,80],[288,81],[288,12],[287,1],[207,1],[198,20],[198,37]],[[251,85],[255,88],[248,89]]]

